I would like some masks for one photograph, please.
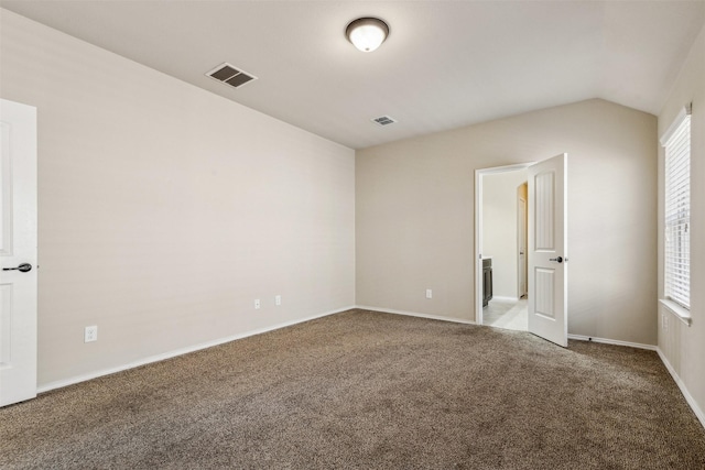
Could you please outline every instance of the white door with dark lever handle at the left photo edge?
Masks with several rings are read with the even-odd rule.
[[[0,406],[36,396],[36,108],[0,100]]]

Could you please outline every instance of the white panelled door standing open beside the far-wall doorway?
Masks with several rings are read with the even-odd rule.
[[[529,331],[568,346],[567,154],[529,167]]]

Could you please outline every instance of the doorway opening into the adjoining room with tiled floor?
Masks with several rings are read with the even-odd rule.
[[[476,321],[528,330],[528,167],[476,171]]]

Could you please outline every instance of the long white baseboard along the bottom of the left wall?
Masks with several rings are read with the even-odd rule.
[[[340,314],[343,311],[347,311],[347,310],[350,310],[352,308],[356,308],[356,307],[355,306],[350,306],[350,307],[345,307],[345,308],[337,309],[337,310],[325,311],[323,314],[314,315],[314,316],[311,316],[311,317],[300,318],[300,319],[295,319],[295,320],[291,320],[291,321],[285,321],[283,324],[276,324],[276,325],[273,325],[273,326],[270,326],[270,327],[259,328],[259,329],[247,331],[247,332],[243,332],[243,334],[240,334],[240,335],[232,335],[232,336],[228,336],[228,337],[225,337],[225,338],[218,338],[218,339],[213,340],[213,341],[207,341],[207,342],[203,342],[203,343],[199,343],[199,345],[188,346],[186,348],[176,349],[174,351],[164,352],[162,354],[150,356],[149,358],[140,359],[139,361],[134,361],[134,362],[130,362],[130,363],[127,363],[127,364],[118,365],[116,368],[104,369],[104,370],[100,370],[100,371],[95,371],[95,372],[90,372],[90,373],[87,373],[87,374],[77,375],[77,376],[74,376],[74,378],[70,378],[70,379],[59,380],[59,381],[56,381],[56,382],[50,382],[50,383],[46,383],[46,384],[44,384],[42,386],[39,386],[36,389],[36,393],[44,393],[44,392],[48,392],[51,390],[62,389],[64,386],[74,385],[76,383],[85,382],[85,381],[93,380],[93,379],[98,379],[98,378],[105,376],[105,375],[110,375],[110,374],[113,374],[116,372],[122,372],[122,371],[126,371],[128,369],[134,369],[134,368],[139,368],[141,365],[151,364],[152,362],[159,362],[159,361],[163,361],[165,359],[175,358],[177,356],[187,354],[189,352],[199,351],[202,349],[213,348],[214,346],[224,345],[226,342],[235,341],[237,339],[248,338],[250,336],[261,335],[263,332],[273,331],[273,330],[281,329],[281,328],[286,328],[286,327],[290,327],[290,326],[293,326],[293,325],[297,325],[297,324],[303,324],[304,321],[315,320],[316,318],[322,318],[322,317],[327,317],[329,315]]]

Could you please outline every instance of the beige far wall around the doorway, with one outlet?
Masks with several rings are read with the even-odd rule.
[[[563,152],[568,332],[655,345],[657,119],[598,99],[358,151],[358,305],[474,320],[475,170]]]

